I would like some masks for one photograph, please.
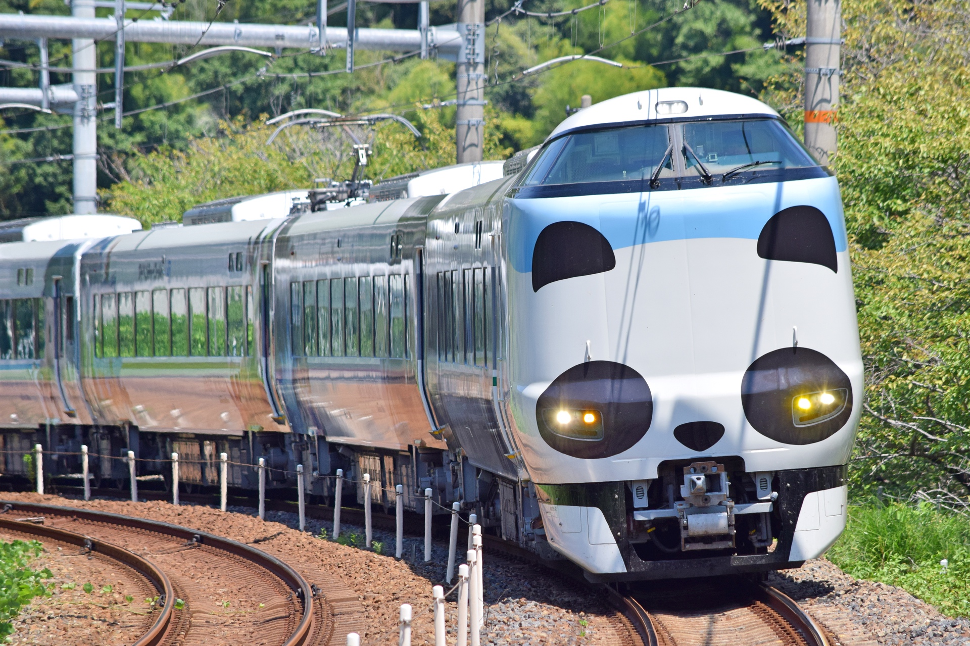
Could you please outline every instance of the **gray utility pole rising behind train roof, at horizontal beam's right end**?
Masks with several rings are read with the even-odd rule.
[[[458,163],[482,160],[485,143],[485,0],[458,0],[458,52],[456,81],[458,113],[455,138]]]

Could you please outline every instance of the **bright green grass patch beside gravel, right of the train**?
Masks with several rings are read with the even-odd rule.
[[[970,617],[966,516],[929,502],[852,506],[846,531],[827,556],[852,576],[903,588],[951,617]]]

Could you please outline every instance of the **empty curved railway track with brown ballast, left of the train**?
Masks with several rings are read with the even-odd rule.
[[[0,504],[0,529],[5,532],[78,546],[128,568],[154,588],[155,621],[135,642],[138,646],[310,646],[330,641],[329,613],[322,599],[314,599],[307,580],[249,545],[101,511]]]

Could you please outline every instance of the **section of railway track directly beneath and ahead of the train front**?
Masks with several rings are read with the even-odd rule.
[[[676,589],[612,591],[645,646],[829,646],[792,598],[745,580],[679,581]]]

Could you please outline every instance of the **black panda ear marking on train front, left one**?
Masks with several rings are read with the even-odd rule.
[[[553,222],[533,248],[533,292],[557,280],[608,272],[616,267],[613,247],[582,222]]]

